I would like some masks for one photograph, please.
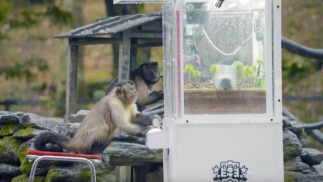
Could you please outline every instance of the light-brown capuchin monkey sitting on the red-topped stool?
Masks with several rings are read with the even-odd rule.
[[[138,92],[133,81],[121,81],[87,114],[72,139],[52,131],[35,137],[34,146],[41,151],[99,154],[110,144],[117,128],[145,136],[154,119],[140,114],[136,100]],[[150,128],[151,129],[151,128]]]

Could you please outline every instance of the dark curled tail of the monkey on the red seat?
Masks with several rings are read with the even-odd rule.
[[[53,131],[44,131],[34,139],[34,146],[40,151],[63,152],[63,148],[68,150],[70,138]]]

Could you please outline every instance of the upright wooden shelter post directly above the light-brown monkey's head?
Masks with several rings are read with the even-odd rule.
[[[130,47],[131,47],[130,31],[126,31],[122,34],[122,41],[120,42],[120,46],[119,46],[118,81],[129,80]]]

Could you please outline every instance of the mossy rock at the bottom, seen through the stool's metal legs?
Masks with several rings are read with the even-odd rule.
[[[98,182],[114,182],[116,177],[109,174],[106,168],[96,167],[96,178]],[[77,164],[68,167],[52,165],[46,176],[46,182],[83,182],[90,181],[90,170],[88,165]]]

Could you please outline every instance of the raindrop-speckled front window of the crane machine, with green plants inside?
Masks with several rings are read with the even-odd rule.
[[[216,2],[184,3],[184,113],[265,113],[265,1]]]

